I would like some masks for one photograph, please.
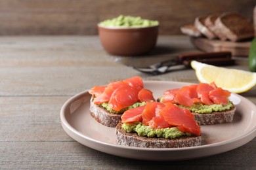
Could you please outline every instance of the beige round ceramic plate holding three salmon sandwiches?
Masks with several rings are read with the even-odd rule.
[[[145,82],[157,98],[164,90],[186,86],[184,82]],[[89,113],[91,95],[85,91],[70,98],[60,110],[62,127],[75,141],[95,150],[138,160],[188,160],[220,154],[238,148],[256,137],[256,106],[236,94],[230,99],[237,106],[229,124],[202,126],[202,146],[190,148],[135,148],[115,144],[115,128],[96,122]],[[254,152],[252,150],[252,152]]]

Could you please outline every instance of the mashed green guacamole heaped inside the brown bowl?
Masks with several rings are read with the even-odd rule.
[[[108,27],[149,27],[159,25],[159,22],[153,20],[145,20],[139,16],[135,17],[120,15],[117,18],[104,20],[103,22],[100,22],[100,25]]]

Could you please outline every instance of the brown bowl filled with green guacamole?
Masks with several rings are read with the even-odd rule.
[[[139,56],[156,46],[159,22],[139,16],[117,16],[98,23],[100,42],[109,54]]]

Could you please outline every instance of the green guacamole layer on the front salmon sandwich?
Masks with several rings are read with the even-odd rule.
[[[122,129],[127,132],[136,132],[139,136],[144,137],[164,137],[169,139],[175,139],[181,136],[191,136],[191,133],[184,133],[179,131],[176,127],[167,127],[162,129],[152,129],[149,126],[143,124],[123,124]]]

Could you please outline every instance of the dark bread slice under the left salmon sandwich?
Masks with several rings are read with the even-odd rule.
[[[96,121],[108,127],[116,127],[122,115],[110,113],[108,110],[104,109],[104,107],[95,105],[95,103],[93,103],[93,97],[91,97],[90,101],[90,112],[91,116],[93,116]]]

